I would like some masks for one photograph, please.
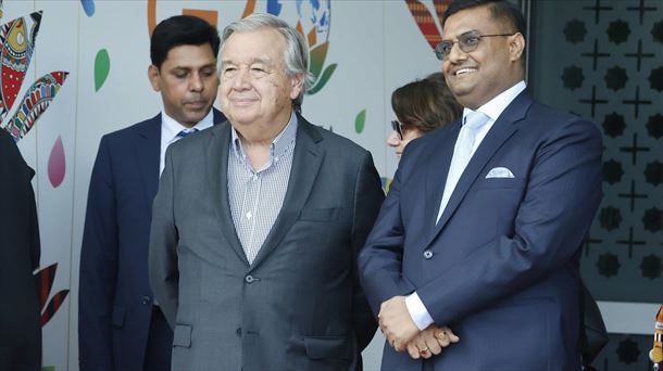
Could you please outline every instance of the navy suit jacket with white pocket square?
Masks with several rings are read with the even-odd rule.
[[[377,312],[416,291],[461,337],[428,369],[578,370],[578,256],[601,199],[600,132],[521,93],[436,225],[460,127],[408,145],[360,255],[366,296]],[[487,178],[496,167],[514,178]],[[384,369],[423,366],[385,346]]]

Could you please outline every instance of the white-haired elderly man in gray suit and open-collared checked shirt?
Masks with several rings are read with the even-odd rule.
[[[150,282],[174,370],[356,370],[376,323],[356,256],[384,194],[371,154],[300,114],[302,36],[268,14],[227,26],[228,123],[168,149]]]

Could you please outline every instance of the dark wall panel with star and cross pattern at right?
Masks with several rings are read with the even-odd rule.
[[[585,241],[583,277],[598,300],[663,303],[663,3],[533,7],[530,88],[603,133],[603,201]],[[595,366],[651,369],[651,336],[611,334]]]

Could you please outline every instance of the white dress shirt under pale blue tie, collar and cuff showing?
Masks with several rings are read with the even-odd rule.
[[[509,104],[511,104],[511,102],[523,90],[525,90],[526,87],[527,86],[525,85],[525,81],[520,81],[518,84],[504,90],[499,95],[497,95],[496,98],[488,101],[486,104],[478,107],[477,111],[486,114],[488,117],[490,117],[490,119],[477,131],[474,144],[472,146],[472,155],[474,155],[474,152],[476,151],[476,149],[479,146],[479,144],[481,144],[481,141],[484,140],[484,138],[486,138],[486,135],[488,133],[488,131],[490,130],[490,128],[492,127],[495,121],[498,119],[498,117],[500,117],[500,115],[502,114],[504,108],[506,108],[506,106]],[[465,117],[467,116],[467,114],[470,114],[471,112],[472,112],[472,110],[470,110],[470,108],[463,108],[463,121],[465,120]],[[458,142],[456,142],[456,145],[458,145]],[[454,155],[455,155],[456,150],[458,149],[454,146],[454,149],[453,149]],[[451,190],[451,191],[453,191],[453,190]],[[442,214],[442,212],[445,210],[443,207],[446,207],[446,206],[447,205],[440,205],[440,209],[437,214],[437,219],[439,219],[439,216]],[[425,330],[431,323],[435,322],[433,320],[433,317],[430,317],[430,314],[426,309],[426,306],[424,306],[424,303],[416,294],[416,291],[414,293],[408,295],[408,297],[405,297],[405,305],[408,306],[408,311],[410,312],[410,317],[412,317],[412,320],[414,321],[414,323],[416,324],[416,327],[420,330]],[[438,324],[446,325],[447,323],[438,323]]]

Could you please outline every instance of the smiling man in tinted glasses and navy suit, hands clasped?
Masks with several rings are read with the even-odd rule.
[[[408,145],[360,256],[383,368],[578,370],[601,136],[526,92],[525,22],[509,1],[455,1],[443,30],[436,53],[463,118]],[[430,357],[448,336],[427,337],[431,324],[460,342]],[[428,359],[399,353],[413,346]]]

